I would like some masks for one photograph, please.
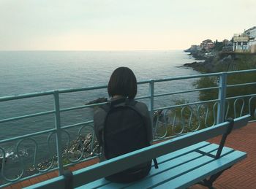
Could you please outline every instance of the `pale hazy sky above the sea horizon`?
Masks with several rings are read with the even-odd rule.
[[[256,0],[0,0],[0,50],[173,50],[256,26]]]

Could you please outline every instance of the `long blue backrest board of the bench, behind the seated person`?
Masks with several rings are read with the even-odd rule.
[[[250,115],[238,117],[234,120],[233,129],[246,126],[250,118]],[[176,150],[180,150],[184,147],[188,147],[198,142],[203,142],[207,139],[211,139],[215,136],[225,134],[230,128],[230,122],[219,123],[211,128],[205,128],[200,131],[195,131],[184,136],[176,137],[165,142],[151,145],[140,150],[136,150],[132,153],[127,153],[116,158],[112,158],[108,161],[94,164],[92,166],[80,169],[73,172],[72,182],[73,187],[79,187],[86,183],[98,180],[102,177],[107,177],[111,174],[115,174],[119,171],[123,171],[132,166],[136,166],[140,163],[150,161],[153,158],[172,153]],[[45,182],[40,182],[37,185],[33,185],[33,188],[65,188],[65,177],[59,176]]]

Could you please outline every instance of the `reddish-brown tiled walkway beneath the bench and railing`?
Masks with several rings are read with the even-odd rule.
[[[221,137],[218,136],[209,140],[209,142],[219,143],[220,139]],[[236,165],[231,169],[225,171],[222,176],[219,177],[217,182],[215,182],[214,188],[256,188],[256,123],[249,123],[248,126],[233,131],[227,137],[225,146],[246,152],[247,158],[240,163],[236,163]],[[75,171],[94,163],[97,163],[97,159],[87,161],[85,163],[79,163],[78,165],[72,166],[70,170]],[[54,171],[30,180],[19,182],[7,188],[23,188],[29,185],[33,185],[37,182],[42,182],[52,177],[56,177],[57,175],[57,172]],[[190,188],[199,189],[205,187],[201,185],[194,185]]]

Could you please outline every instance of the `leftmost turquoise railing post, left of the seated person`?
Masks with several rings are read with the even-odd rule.
[[[54,90],[54,102],[55,102],[55,126],[56,126],[56,148],[57,158],[59,165],[59,175],[64,172],[63,161],[61,155],[61,113],[59,108],[59,90]]]

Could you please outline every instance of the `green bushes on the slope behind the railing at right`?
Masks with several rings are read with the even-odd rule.
[[[223,61],[224,59],[224,61]],[[225,60],[226,59],[226,60]],[[244,69],[256,69],[256,55],[236,55],[236,57],[222,57],[219,55],[211,61],[215,66],[214,72],[230,72]],[[205,73],[210,73],[211,69],[207,66],[201,66]],[[219,77],[202,77],[194,83],[195,88],[211,88],[219,86]],[[227,85],[237,85],[249,82],[256,82],[256,73],[237,73],[227,75]],[[219,89],[200,90],[199,101],[208,101],[218,99]],[[226,101],[226,117],[239,117],[249,112],[256,118],[256,85],[242,85],[227,88],[226,97],[245,96],[255,94],[255,98],[249,97],[239,99],[228,99]],[[189,101],[179,99],[175,101],[176,105],[187,104]],[[176,136],[197,129],[212,126],[217,122],[217,103],[207,103],[192,106],[181,106],[169,109],[165,112],[165,121],[157,123],[157,135]],[[160,119],[159,119],[160,120]]]

